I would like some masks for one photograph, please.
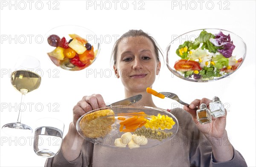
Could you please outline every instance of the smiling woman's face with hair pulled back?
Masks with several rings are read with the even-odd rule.
[[[128,91],[141,92],[151,87],[160,66],[154,45],[147,37],[128,37],[119,42],[114,70]]]

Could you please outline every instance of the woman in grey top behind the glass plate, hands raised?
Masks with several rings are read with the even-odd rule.
[[[122,42],[125,41],[125,42]],[[161,62],[154,39],[141,30],[123,34],[113,48],[113,68],[124,85],[125,98],[142,94],[140,103],[157,107],[146,92],[159,74]],[[124,72],[125,71],[125,72]],[[73,122],[63,139],[60,153],[46,161],[52,167],[197,167],[247,166],[241,154],[227,141],[226,116],[201,125],[195,107],[209,105],[209,99],[196,99],[184,109],[170,112],[179,121],[175,137],[164,144],[141,150],[122,150],[86,142],[76,131],[76,122],[84,113],[105,107],[100,94],[84,96],[73,108]],[[90,105],[96,104],[96,105]],[[225,144],[224,144],[225,143]]]

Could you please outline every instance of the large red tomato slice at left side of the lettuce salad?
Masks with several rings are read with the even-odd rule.
[[[193,60],[185,60],[185,59],[180,59],[177,62],[175,62],[174,65],[175,70],[177,71],[194,71],[194,70],[201,70],[202,68],[200,67],[199,63]]]

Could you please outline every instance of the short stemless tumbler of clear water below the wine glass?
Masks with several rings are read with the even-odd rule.
[[[61,148],[64,123],[54,118],[42,118],[36,122],[34,151],[41,157],[53,157]]]

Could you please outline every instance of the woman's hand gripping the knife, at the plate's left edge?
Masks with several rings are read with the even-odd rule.
[[[76,127],[77,120],[85,113],[104,107],[106,105],[100,94],[84,96],[73,108],[73,125]]]

